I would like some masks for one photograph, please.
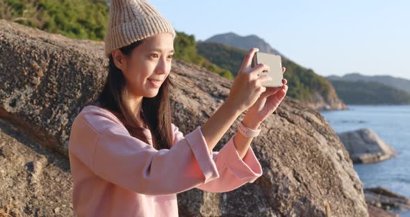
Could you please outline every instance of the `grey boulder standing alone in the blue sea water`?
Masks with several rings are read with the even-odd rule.
[[[354,163],[374,163],[397,155],[393,147],[387,145],[370,129],[358,129],[338,134]]]

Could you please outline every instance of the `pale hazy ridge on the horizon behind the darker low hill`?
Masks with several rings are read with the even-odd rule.
[[[385,85],[391,86],[392,88],[404,90],[410,94],[410,80],[392,77],[390,75],[366,76],[366,75],[359,74],[359,73],[350,73],[350,74],[343,75],[343,77],[331,75],[326,78],[329,80],[343,80],[343,81],[374,81],[378,83],[384,83]]]

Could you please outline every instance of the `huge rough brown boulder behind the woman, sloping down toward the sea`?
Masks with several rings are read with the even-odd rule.
[[[14,185],[24,189],[13,199],[22,201],[23,207],[14,209],[26,215],[46,209],[44,207],[54,212],[57,207],[59,212],[71,209],[71,200],[67,199],[71,180],[67,179],[69,169],[66,168],[69,131],[83,105],[95,99],[104,84],[108,60],[103,51],[102,42],[72,40],[0,20],[0,53],[3,54],[0,57],[0,118],[24,138],[30,138],[30,142],[22,143],[29,150],[35,148],[28,144],[50,150],[33,153],[35,159],[20,157],[16,162],[28,163],[28,166],[10,166],[5,170],[6,175],[0,176],[1,183],[4,177],[8,177],[9,183],[0,186],[0,192],[6,193],[0,198],[3,207],[8,204],[8,197],[13,196],[8,190]],[[231,87],[231,81],[218,74],[180,61],[173,63],[170,78],[176,84],[170,95],[173,123],[183,134],[211,117],[227,99]],[[242,118],[243,114],[215,150],[236,133]],[[1,143],[1,150],[10,151],[0,154],[0,159],[10,161],[19,156],[23,149],[13,145],[15,143]],[[180,193],[180,215],[368,216],[363,184],[352,160],[317,111],[286,98],[263,122],[261,134],[252,141],[252,148],[263,167],[262,177],[227,193],[208,193],[196,188]],[[66,164],[60,162],[58,165],[64,165],[63,169],[56,170],[52,167],[55,161]],[[44,169],[35,169],[36,166]],[[59,181],[64,184],[51,181],[56,175],[49,175],[47,166],[52,171],[65,172],[64,180]],[[40,182],[44,187],[36,188],[31,181],[28,184],[15,181],[31,180],[31,177],[36,180],[34,184]],[[46,199],[28,206],[24,195]],[[44,202],[51,198],[59,198],[59,204],[54,207]],[[61,204],[65,204],[65,208]]]

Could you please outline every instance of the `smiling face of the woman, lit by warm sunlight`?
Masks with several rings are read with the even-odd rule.
[[[126,79],[129,95],[155,97],[170,74],[173,54],[172,34],[158,33],[145,38],[145,42],[133,49],[131,56],[120,55],[119,68]]]

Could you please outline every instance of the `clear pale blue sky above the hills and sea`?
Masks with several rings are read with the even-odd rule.
[[[359,72],[410,79],[410,1],[149,2],[177,31],[197,40],[255,34],[322,76]],[[256,17],[265,22],[256,23]]]

